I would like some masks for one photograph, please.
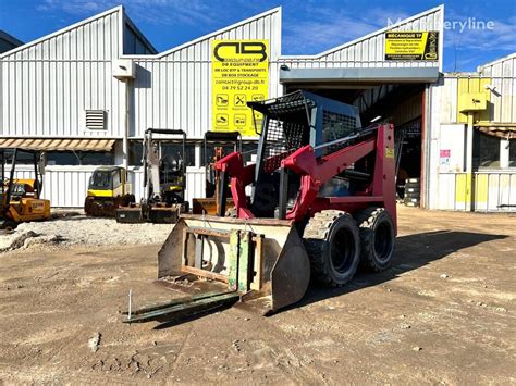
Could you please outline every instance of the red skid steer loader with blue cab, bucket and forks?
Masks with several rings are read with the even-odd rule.
[[[236,301],[270,313],[299,301],[310,279],[343,286],[359,265],[389,266],[393,125],[361,127],[356,108],[306,91],[248,105],[263,114],[257,162],[244,164],[241,152],[218,161],[217,215],[181,216],[159,252],[159,282],[196,295],[138,310],[130,322]]]

